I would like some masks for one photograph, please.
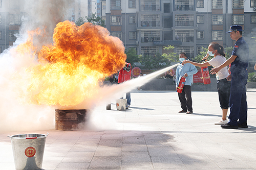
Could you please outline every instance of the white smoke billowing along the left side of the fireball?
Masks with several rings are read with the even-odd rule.
[[[63,0],[26,0],[22,3],[20,10],[24,15],[17,40],[0,56],[0,132],[54,128],[55,108],[22,105],[18,100],[18,90],[23,90],[19,88],[19,83],[28,79],[25,70],[37,61],[32,52],[22,55],[16,53],[15,48],[26,41],[27,31],[36,28],[44,30],[44,34],[36,37],[34,44],[41,47],[51,43],[56,24],[66,19],[68,3]]]

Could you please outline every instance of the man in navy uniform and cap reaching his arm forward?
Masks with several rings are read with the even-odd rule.
[[[231,57],[218,67],[211,69],[211,74],[216,74],[221,68],[231,63],[231,87],[230,87],[230,114],[229,122],[221,125],[226,129],[248,128],[247,126],[247,67],[249,58],[249,47],[242,37],[241,26],[230,26],[228,32],[232,40],[236,40]]]

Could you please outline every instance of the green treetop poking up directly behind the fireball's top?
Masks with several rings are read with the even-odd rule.
[[[76,26],[81,26],[86,21],[91,22],[94,25],[99,25],[99,26],[105,27],[105,20],[102,19],[101,17],[97,16],[96,12],[92,13],[91,16],[85,16],[84,18],[83,17],[78,18],[75,23],[76,23]]]

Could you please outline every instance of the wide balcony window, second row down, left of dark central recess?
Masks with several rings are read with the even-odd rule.
[[[141,27],[159,27],[160,15],[140,15]]]

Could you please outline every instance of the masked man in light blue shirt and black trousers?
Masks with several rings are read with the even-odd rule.
[[[183,64],[182,61],[187,59],[186,53],[180,53],[180,65],[176,69],[176,90],[178,89],[180,79],[184,76],[186,77],[186,82],[184,84],[183,90],[181,93],[178,93],[180,106],[182,110],[179,113],[193,113],[192,108],[192,98],[191,98],[191,83],[193,75],[197,73],[197,68],[195,65],[190,63]]]

